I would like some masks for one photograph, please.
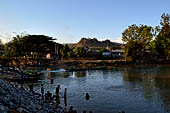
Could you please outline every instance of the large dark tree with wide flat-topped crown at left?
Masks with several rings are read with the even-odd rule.
[[[4,46],[6,57],[20,57],[36,55],[43,57],[47,53],[54,53],[55,42],[52,37],[44,35],[25,35],[13,37],[13,40]]]

